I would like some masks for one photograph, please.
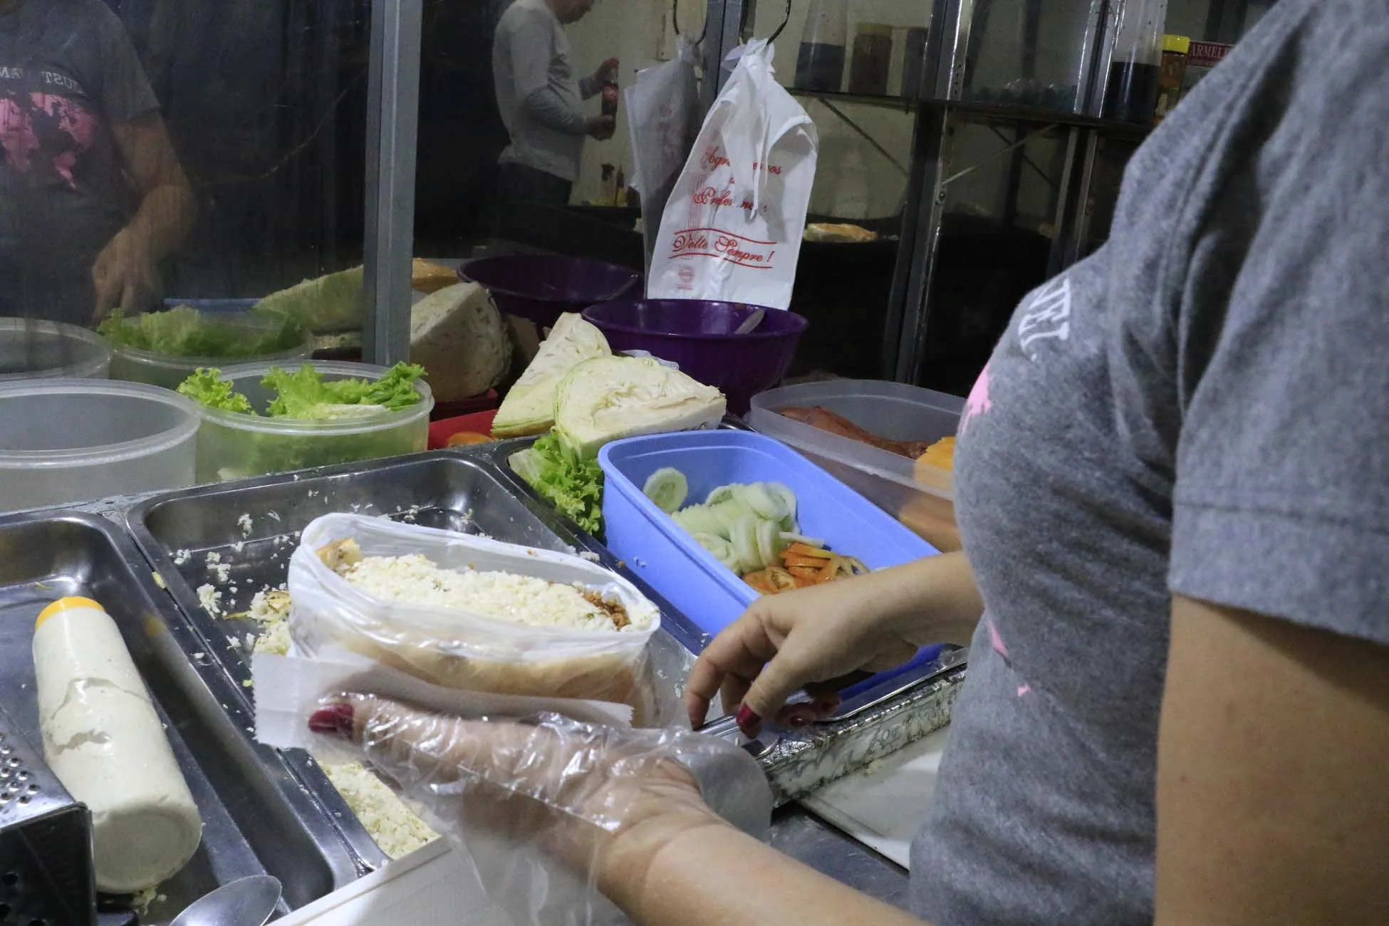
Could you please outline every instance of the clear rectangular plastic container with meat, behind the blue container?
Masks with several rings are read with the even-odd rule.
[[[876,437],[933,443],[954,436],[963,398],[903,383],[836,379],[754,396],[747,416],[756,430],[810,457],[936,548],[960,548],[951,471],[793,421],[781,414],[786,408],[824,408]]]

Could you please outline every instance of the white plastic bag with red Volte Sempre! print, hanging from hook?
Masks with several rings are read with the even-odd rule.
[[[646,294],[790,305],[820,137],[751,42],[665,204]]]

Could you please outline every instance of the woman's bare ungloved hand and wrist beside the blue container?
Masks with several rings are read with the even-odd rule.
[[[685,687],[690,725],[700,727],[722,693],[724,711],[756,733],[799,689],[817,696],[781,719],[810,723],[838,704],[826,683],[911,659],[926,643],[968,641],[983,604],[963,553],[947,553],[857,579],[758,598],[700,654]],[[739,705],[740,709],[739,709]]]

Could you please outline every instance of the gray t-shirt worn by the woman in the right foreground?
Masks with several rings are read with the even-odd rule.
[[[1153,919],[1171,596],[1389,644],[1389,6],[1282,0],[967,403],[986,605],[913,851],[936,926]]]

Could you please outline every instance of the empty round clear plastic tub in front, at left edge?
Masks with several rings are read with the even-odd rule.
[[[0,385],[0,511],[193,485],[197,410],[139,383]]]

